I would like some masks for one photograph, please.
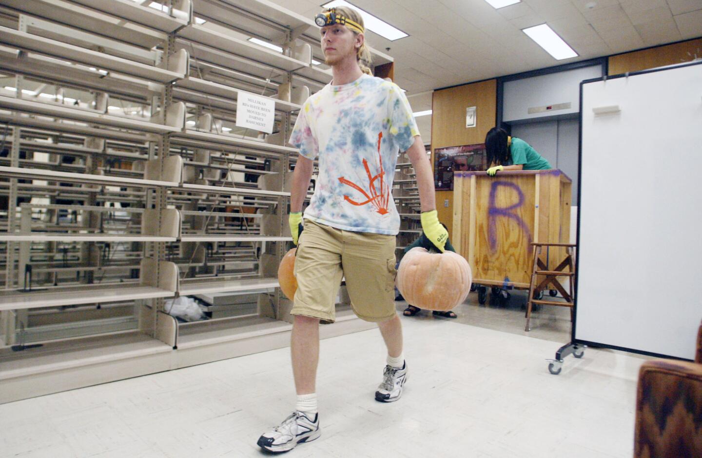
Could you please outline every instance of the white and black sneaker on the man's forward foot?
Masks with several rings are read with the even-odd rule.
[[[293,450],[299,443],[319,438],[322,434],[319,431],[319,413],[315,413],[314,418],[307,415],[297,410],[291,413],[273,431],[263,433],[258,438],[258,446],[269,452],[280,453]]]

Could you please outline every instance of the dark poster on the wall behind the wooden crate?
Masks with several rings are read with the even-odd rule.
[[[434,187],[453,190],[454,171],[485,170],[485,144],[449,146],[434,150]]]

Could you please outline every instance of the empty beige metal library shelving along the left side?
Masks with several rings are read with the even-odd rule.
[[[148,5],[0,6],[0,403],[289,340],[276,273],[298,152],[284,141],[331,80],[312,64],[317,26],[267,0]],[[237,128],[251,93],[273,100],[273,134]],[[196,294],[257,303],[165,313]],[[369,326],[344,312],[324,335]]]

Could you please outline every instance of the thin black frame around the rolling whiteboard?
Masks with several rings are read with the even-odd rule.
[[[582,174],[583,174],[583,114],[585,114],[585,110],[583,110],[583,86],[585,84],[590,84],[590,83],[595,83],[595,82],[600,82],[600,81],[607,81],[608,79],[618,79],[618,78],[627,78],[627,77],[633,77],[641,74],[647,74],[647,73],[654,73],[654,72],[663,72],[667,70],[675,70],[677,68],[682,68],[682,67],[691,67],[694,65],[702,65],[702,61],[693,61],[690,63],[681,63],[681,64],[675,64],[675,65],[668,65],[665,67],[658,67],[655,69],[651,70],[642,70],[640,72],[631,72],[631,73],[624,73],[624,74],[618,74],[618,75],[613,75],[613,76],[604,76],[601,78],[595,78],[595,79],[586,79],[581,81],[580,84],[580,126],[578,127],[578,225],[577,225],[577,235],[576,235],[576,244],[578,247],[578,250],[580,249],[580,242],[581,242],[581,202],[579,202],[581,198],[581,192],[582,192]],[[600,348],[611,348],[612,350],[618,350],[618,351],[626,351],[629,353],[637,353],[640,355],[648,355],[648,356],[653,356],[656,358],[668,358],[668,359],[675,359],[675,360],[684,360],[684,361],[691,361],[689,358],[681,358],[679,356],[674,356],[674,355],[665,355],[662,353],[654,353],[651,351],[644,351],[640,350],[638,348],[628,348],[624,346],[617,346],[613,345],[611,343],[607,342],[596,342],[596,341],[588,341],[585,339],[577,339],[576,338],[576,332],[577,332],[577,323],[578,323],[578,297],[580,294],[579,292],[579,273],[580,273],[580,257],[579,252],[578,255],[576,256],[576,275],[575,278],[575,298],[574,298],[574,305],[573,305],[573,322],[571,325],[571,345],[572,344],[578,344],[578,345],[585,345],[585,346],[592,346],[592,347],[600,347]],[[702,313],[701,313],[702,315]],[[702,316],[701,316],[702,318]],[[560,351],[563,350],[563,348],[566,348],[567,346],[562,347]],[[691,349],[691,350],[694,350]],[[559,352],[560,352],[559,351]]]

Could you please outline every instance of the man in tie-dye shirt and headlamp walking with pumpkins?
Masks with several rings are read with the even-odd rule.
[[[258,439],[270,452],[286,452],[319,438],[319,322],[334,321],[342,276],[354,312],[362,320],[378,322],[388,347],[388,365],[375,399],[390,403],[402,395],[407,365],[402,325],[395,313],[399,215],[392,199],[399,150],[408,152],[416,171],[425,234],[442,251],[448,238],[437,218],[431,166],[411,107],[396,84],[370,76],[361,16],[351,8],[331,8],[315,22],[324,25],[322,50],[333,81],[307,99],[290,138],[300,149],[289,217],[293,243],[298,245],[298,289],[291,310],[298,400],[295,412]],[[317,156],[319,176],[300,234],[302,205]]]

